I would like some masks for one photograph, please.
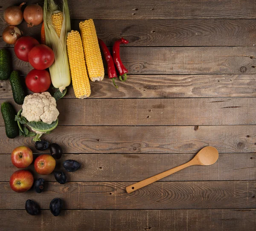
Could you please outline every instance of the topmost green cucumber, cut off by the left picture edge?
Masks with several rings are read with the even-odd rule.
[[[9,51],[0,49],[0,80],[9,79],[11,74],[11,60]]]

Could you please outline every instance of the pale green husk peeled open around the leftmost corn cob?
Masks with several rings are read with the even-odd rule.
[[[63,22],[61,36],[58,37],[52,25],[52,13],[59,10],[53,0],[44,0],[44,29],[46,45],[52,48],[55,60],[49,67],[52,85],[62,92],[70,85],[71,76],[67,56],[67,33],[71,31],[70,14],[67,0],[63,0]]]

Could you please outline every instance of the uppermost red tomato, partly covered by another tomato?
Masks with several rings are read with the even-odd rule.
[[[31,49],[38,44],[38,40],[30,36],[23,36],[20,37],[15,43],[14,52],[18,59],[28,62],[29,51],[31,51]]]

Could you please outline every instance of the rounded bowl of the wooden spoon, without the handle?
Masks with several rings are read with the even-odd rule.
[[[218,150],[208,146],[202,148],[191,160],[194,165],[212,165],[218,160]]]

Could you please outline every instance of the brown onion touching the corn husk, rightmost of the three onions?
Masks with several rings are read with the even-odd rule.
[[[28,23],[28,27],[37,26],[43,22],[43,8],[38,4],[31,4],[27,6],[23,12],[23,17]]]

